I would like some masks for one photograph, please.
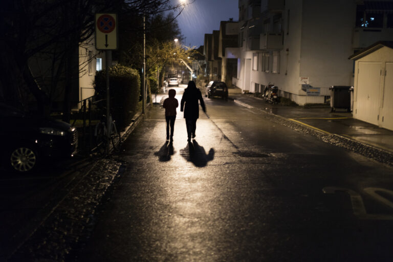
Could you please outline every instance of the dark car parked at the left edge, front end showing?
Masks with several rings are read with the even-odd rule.
[[[68,123],[29,115],[0,103],[0,154],[2,165],[28,172],[52,157],[76,154],[78,134]]]

